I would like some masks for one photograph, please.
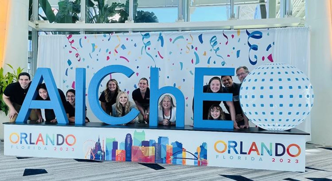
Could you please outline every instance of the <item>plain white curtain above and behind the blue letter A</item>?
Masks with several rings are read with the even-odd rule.
[[[64,90],[65,40],[64,35],[41,35],[38,42],[37,68],[50,68],[55,84],[61,90]]]

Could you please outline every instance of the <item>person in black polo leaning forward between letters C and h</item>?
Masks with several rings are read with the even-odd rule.
[[[149,123],[150,113],[150,89],[149,81],[146,78],[141,78],[138,82],[138,88],[132,91],[131,96],[134,100],[141,115],[138,115],[138,120]]]

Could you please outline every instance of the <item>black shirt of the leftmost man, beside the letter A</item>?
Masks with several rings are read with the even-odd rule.
[[[25,99],[25,96],[28,93],[28,90],[30,88],[31,82],[29,83],[29,86],[27,89],[23,89],[20,85],[20,83],[15,82],[12,84],[9,84],[5,91],[3,92],[6,96],[9,97],[11,102],[14,102],[16,104],[22,105],[23,101]]]

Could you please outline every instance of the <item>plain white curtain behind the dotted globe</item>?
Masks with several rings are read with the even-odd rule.
[[[277,28],[275,45],[274,57],[276,62],[294,65],[310,78],[310,27]],[[310,126],[311,120],[308,116],[296,128],[310,133]],[[307,136],[306,140],[311,141],[311,136]]]

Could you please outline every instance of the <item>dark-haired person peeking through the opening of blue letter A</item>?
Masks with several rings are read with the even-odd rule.
[[[50,100],[45,83],[39,85],[37,90],[38,90],[38,93],[39,93],[39,96],[37,97],[37,100]],[[67,117],[69,117],[68,103],[67,103],[67,100],[66,100],[66,96],[64,95],[62,90],[58,89],[58,91],[59,91],[59,95],[60,95],[61,102],[63,104],[64,110],[67,113]],[[45,109],[45,122],[51,122],[51,123],[56,123],[57,122],[53,109]]]

